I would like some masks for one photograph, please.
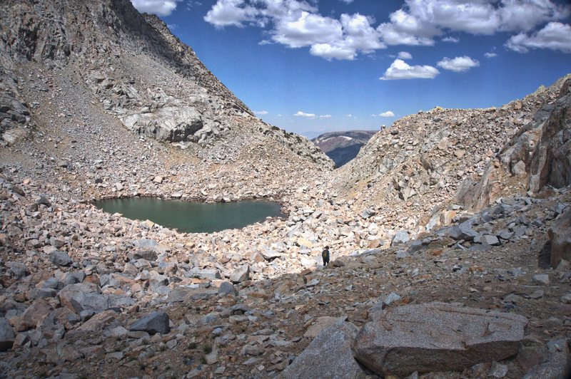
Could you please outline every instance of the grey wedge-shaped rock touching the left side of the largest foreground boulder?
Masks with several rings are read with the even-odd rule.
[[[338,321],[321,331],[278,378],[365,378],[351,346],[358,328]]]

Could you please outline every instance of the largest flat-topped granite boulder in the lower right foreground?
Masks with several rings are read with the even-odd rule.
[[[355,338],[355,358],[379,375],[463,370],[515,355],[527,319],[447,303],[400,306],[370,314]]]

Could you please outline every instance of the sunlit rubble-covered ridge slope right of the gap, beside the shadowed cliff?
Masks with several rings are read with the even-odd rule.
[[[480,209],[497,197],[525,193],[526,185],[505,178],[497,183],[502,187],[496,189],[496,197],[487,197],[479,206],[459,199],[480,178],[488,177],[487,167],[497,165],[496,155],[506,143],[531,128],[534,117],[545,118],[564,82],[561,79],[500,108],[437,107],[400,119],[337,170],[333,185],[353,199],[359,212],[383,213],[387,234],[393,235],[400,229],[415,235],[446,225],[452,208]],[[534,125],[537,129],[542,123]]]

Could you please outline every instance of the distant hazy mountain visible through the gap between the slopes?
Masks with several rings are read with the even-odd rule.
[[[313,138],[315,143],[337,167],[357,156],[361,146],[370,140],[378,130],[348,130],[345,132],[330,132]]]

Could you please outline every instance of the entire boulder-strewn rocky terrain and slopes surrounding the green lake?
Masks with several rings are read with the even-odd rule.
[[[0,14],[1,377],[565,377],[568,81],[411,115],[330,172],[128,1]],[[136,195],[288,217],[183,234],[90,203]]]

